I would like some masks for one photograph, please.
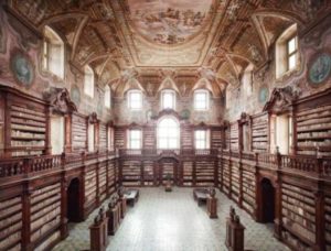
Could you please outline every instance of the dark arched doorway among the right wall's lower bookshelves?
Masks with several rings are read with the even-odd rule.
[[[268,178],[260,183],[261,192],[261,222],[273,222],[275,220],[275,188]]]

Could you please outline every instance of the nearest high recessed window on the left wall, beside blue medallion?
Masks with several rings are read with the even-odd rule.
[[[44,29],[43,68],[64,77],[64,43],[50,26]]]

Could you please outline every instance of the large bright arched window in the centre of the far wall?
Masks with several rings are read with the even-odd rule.
[[[180,148],[180,124],[177,119],[167,117],[158,124],[158,149]]]

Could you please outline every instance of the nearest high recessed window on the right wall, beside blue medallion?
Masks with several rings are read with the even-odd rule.
[[[287,29],[276,42],[276,77],[279,78],[299,65],[297,24]]]

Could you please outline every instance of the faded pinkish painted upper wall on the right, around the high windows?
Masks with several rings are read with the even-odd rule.
[[[248,95],[243,83],[238,88],[231,86],[226,90],[225,119],[237,120],[242,112],[255,114],[263,110],[274,88],[291,86],[299,97],[306,97],[322,91],[331,86],[331,77],[321,85],[309,80],[309,69],[312,61],[322,52],[331,56],[331,17],[320,21],[313,29],[299,30],[300,67],[290,74],[276,79],[275,46],[270,48],[269,64],[266,64],[253,75],[253,91]],[[305,33],[303,33],[305,32]]]

